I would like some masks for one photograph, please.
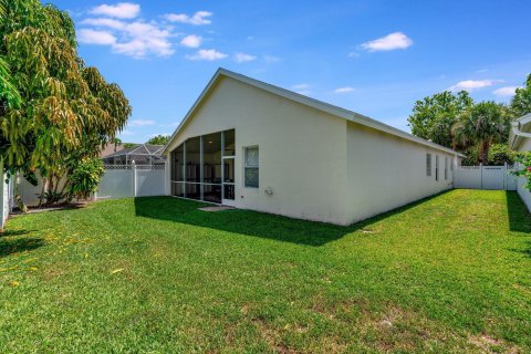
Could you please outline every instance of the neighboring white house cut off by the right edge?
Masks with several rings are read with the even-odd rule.
[[[509,145],[513,150],[520,153],[531,152],[531,113],[512,122]],[[524,185],[525,179],[523,177],[519,178],[517,190],[529,211],[531,211],[531,192],[524,188]]]

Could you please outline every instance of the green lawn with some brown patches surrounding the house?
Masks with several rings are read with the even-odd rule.
[[[170,197],[15,217],[0,352],[530,352],[531,217],[452,190],[351,227]]]

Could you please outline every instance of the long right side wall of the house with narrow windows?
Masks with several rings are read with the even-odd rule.
[[[366,219],[452,188],[457,156],[416,144],[360,124],[348,123],[350,222]],[[431,176],[426,175],[431,154]],[[435,179],[439,156],[439,180]],[[445,179],[448,157],[448,179]],[[454,164],[454,168],[450,165]]]

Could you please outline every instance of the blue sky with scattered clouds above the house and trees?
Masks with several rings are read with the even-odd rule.
[[[408,131],[416,100],[508,102],[531,72],[531,1],[53,1],[133,106],[121,137],[170,134],[222,66]]]

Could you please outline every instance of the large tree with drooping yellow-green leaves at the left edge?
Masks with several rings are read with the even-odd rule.
[[[0,0],[0,158],[50,180],[96,157],[131,106],[77,55],[72,19],[39,0]]]

